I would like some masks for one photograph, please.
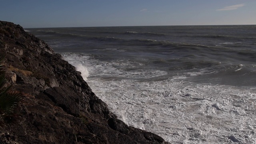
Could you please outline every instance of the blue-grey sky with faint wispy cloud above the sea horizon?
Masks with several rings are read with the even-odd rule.
[[[24,28],[256,24],[256,0],[0,0]]]

